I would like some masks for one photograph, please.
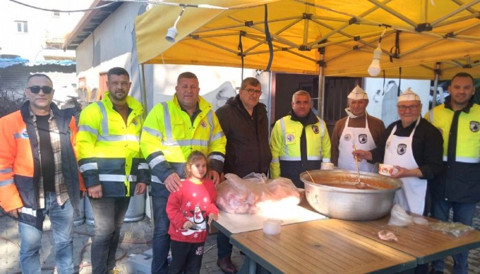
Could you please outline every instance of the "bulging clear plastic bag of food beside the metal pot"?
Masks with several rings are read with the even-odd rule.
[[[228,213],[256,214],[274,206],[296,206],[300,203],[298,189],[287,178],[268,180],[259,173],[250,173],[241,179],[235,174],[217,188],[217,206]]]

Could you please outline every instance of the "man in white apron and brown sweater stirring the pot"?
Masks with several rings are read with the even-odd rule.
[[[356,149],[370,151],[376,148],[385,125],[380,119],[370,116],[366,111],[368,95],[358,85],[348,95],[348,108],[345,112],[348,116],[335,123],[331,139],[332,162],[339,169],[356,171],[355,159],[352,158],[353,145]],[[377,173],[378,163],[370,163],[367,160],[359,162],[360,171]]]

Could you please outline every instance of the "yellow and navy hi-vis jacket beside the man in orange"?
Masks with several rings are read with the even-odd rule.
[[[113,109],[109,92],[80,114],[78,164],[85,186],[101,184],[104,197],[130,197],[136,182],[149,183],[149,169],[140,151],[143,108],[128,96],[128,121]]]

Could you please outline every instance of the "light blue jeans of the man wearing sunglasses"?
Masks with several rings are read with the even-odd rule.
[[[37,211],[37,218],[49,215],[53,240],[55,240],[55,264],[57,273],[73,273],[73,208],[70,200],[59,206],[55,192],[45,192],[45,209]],[[40,248],[42,232],[32,225],[19,222],[21,236],[20,266],[22,273],[41,273]]]

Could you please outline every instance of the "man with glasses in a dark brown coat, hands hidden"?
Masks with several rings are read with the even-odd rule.
[[[252,172],[267,175],[272,161],[268,143],[267,108],[259,103],[262,94],[258,79],[243,79],[239,95],[228,99],[216,112],[227,139],[224,173],[245,177]],[[236,273],[230,260],[232,245],[225,234],[217,234],[217,264],[224,273]]]

